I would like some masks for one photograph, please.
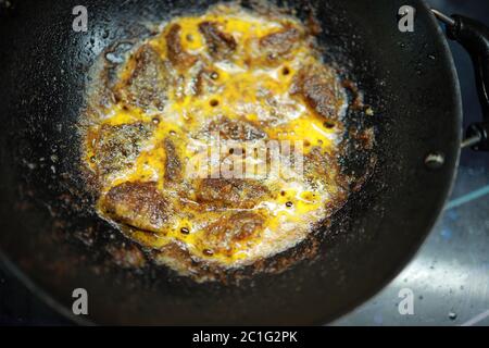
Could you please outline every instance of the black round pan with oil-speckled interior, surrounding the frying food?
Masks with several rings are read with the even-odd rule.
[[[376,110],[369,122],[377,165],[363,189],[315,233],[315,257],[283,272],[199,284],[164,268],[114,264],[106,246],[130,243],[87,208],[92,202],[78,170],[77,119],[88,70],[115,42],[151,35],[148,23],[214,2],[85,0],[88,32],[75,33],[78,1],[0,1],[2,260],[75,322],[325,323],[373,296],[405,265],[450,192],[462,139],[461,96],[427,4],[293,1],[289,7],[300,17],[315,11],[325,59],[359,82]],[[416,9],[412,33],[398,29],[404,4]],[[353,162],[362,164],[361,156]],[[309,248],[305,243],[293,252]],[[88,291],[88,315],[71,311],[75,288]]]

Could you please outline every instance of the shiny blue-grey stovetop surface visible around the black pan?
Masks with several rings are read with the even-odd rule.
[[[409,1],[408,1],[409,2]],[[489,25],[489,0],[429,0],[446,13]],[[481,117],[467,53],[450,44],[461,82],[465,126]],[[416,219],[416,216],[413,216]],[[401,289],[414,314],[401,315]],[[0,324],[70,324],[0,268]],[[333,325],[489,325],[489,153],[462,152],[456,183],[419,252],[383,291]]]

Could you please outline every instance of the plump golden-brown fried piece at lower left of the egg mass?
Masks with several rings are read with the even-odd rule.
[[[113,221],[147,232],[161,232],[172,213],[156,183],[126,182],[112,187],[101,210]]]

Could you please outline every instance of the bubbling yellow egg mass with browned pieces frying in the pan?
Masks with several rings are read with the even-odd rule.
[[[118,67],[112,104],[84,115],[97,211],[185,275],[293,248],[349,194],[339,165],[348,99],[337,72],[311,30],[283,14],[220,4],[160,30]],[[203,177],[188,176],[202,146],[217,140],[233,142]],[[303,166],[248,147],[283,140],[301,149]],[[284,175],[213,176],[231,160],[266,169],[276,160]]]

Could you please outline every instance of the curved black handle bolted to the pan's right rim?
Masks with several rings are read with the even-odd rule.
[[[482,122],[468,126],[462,147],[489,151],[489,27],[462,15],[448,16],[435,9],[431,12],[447,25],[447,36],[465,48],[475,69]]]

